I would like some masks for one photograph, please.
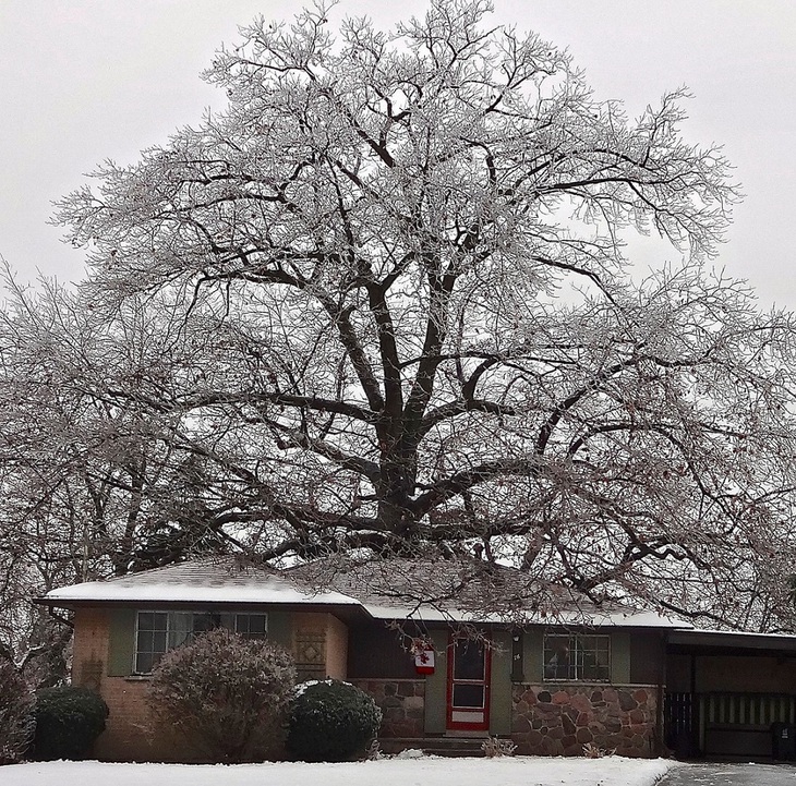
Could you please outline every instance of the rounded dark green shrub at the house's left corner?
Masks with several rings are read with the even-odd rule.
[[[108,705],[98,693],[70,685],[36,693],[36,759],[84,759],[105,729]]]

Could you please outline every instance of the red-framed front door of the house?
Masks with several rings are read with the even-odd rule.
[[[451,636],[448,644],[448,728],[490,727],[489,642]]]

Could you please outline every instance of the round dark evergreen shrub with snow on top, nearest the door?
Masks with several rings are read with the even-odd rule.
[[[303,761],[363,757],[382,723],[382,711],[373,698],[333,679],[302,688],[290,704],[288,751]]]

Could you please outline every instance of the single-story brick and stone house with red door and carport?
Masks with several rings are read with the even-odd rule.
[[[486,735],[553,755],[587,743],[631,757],[787,752],[771,729],[796,724],[796,637],[702,631],[551,588],[545,605],[519,571],[462,565],[394,559],[324,576],[224,557],[38,602],[73,612],[73,684],[110,709],[100,760],[185,759],[148,731],[147,684],[164,652],[215,626],[284,645],[302,679],[370,692],[387,752],[474,752]]]

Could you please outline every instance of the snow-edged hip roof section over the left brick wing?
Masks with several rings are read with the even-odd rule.
[[[105,581],[50,590],[49,605],[86,603],[230,603],[360,606],[334,590],[315,590],[273,570],[233,559],[201,559]]]

